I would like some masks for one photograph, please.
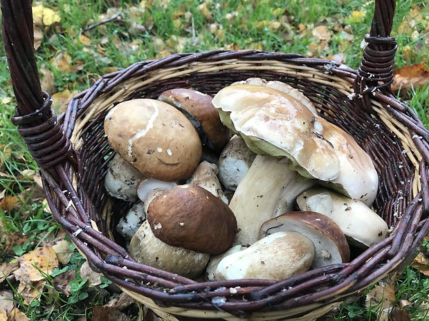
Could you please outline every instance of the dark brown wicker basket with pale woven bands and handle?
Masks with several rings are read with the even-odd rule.
[[[30,0],[2,0],[3,39],[18,101],[12,121],[40,166],[55,219],[95,271],[164,320],[312,320],[347,295],[400,271],[428,233],[429,133],[390,92],[396,41],[390,37],[394,1],[376,1],[371,35],[358,70],[300,55],[226,51],[143,61],[99,79],[73,97],[58,119],[41,90],[33,54]],[[392,233],[350,263],[289,278],[195,282],[138,264],[111,240],[111,208],[103,177],[112,150],[103,120],[119,101],[156,98],[163,90],[192,87],[215,94],[223,86],[262,77],[284,81],[307,95],[320,115],[345,129],[372,157],[380,178],[374,208]],[[99,232],[101,231],[101,233]],[[232,289],[231,288],[235,288]],[[212,300],[216,297],[226,298]],[[220,303],[219,303],[220,302]],[[181,316],[178,316],[181,315]]]

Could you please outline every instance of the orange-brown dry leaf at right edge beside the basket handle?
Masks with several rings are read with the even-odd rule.
[[[405,93],[413,86],[423,86],[429,82],[429,69],[424,64],[404,66],[394,70],[392,89]]]

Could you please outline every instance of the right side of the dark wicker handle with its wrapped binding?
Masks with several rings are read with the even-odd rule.
[[[365,108],[370,109],[370,96],[376,91],[391,94],[396,39],[390,37],[395,0],[376,0],[371,31],[365,36],[367,46],[357,70],[354,92],[362,98]]]

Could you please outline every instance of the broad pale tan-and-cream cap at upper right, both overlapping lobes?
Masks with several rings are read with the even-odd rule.
[[[221,120],[255,153],[288,157],[295,171],[340,193],[374,201],[372,160],[344,130],[314,115],[298,99],[273,88],[235,85],[213,99]]]

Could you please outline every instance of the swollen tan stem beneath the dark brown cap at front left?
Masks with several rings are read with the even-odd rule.
[[[159,240],[147,220],[131,238],[128,251],[140,263],[187,278],[197,278],[210,259],[208,253],[197,253]]]

